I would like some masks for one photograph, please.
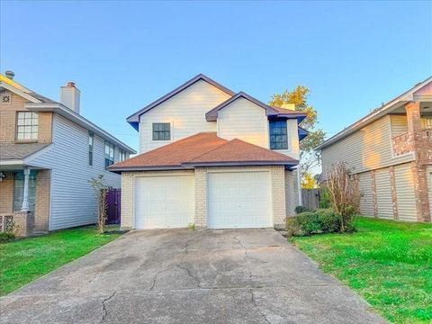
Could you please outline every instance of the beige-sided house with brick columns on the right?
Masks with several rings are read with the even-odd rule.
[[[318,149],[324,176],[338,161],[358,175],[362,214],[430,222],[432,77],[339,131]]]

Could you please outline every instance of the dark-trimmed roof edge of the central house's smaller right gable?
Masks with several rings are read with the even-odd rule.
[[[296,118],[298,119],[299,122],[302,121],[304,118],[306,118],[306,113],[304,112],[298,112],[290,109],[273,107],[241,91],[238,94],[235,94],[234,96],[230,97],[228,100],[224,101],[223,103],[220,103],[218,106],[214,107],[209,112],[206,112],[205,119],[207,121],[216,121],[218,119],[218,112],[220,112],[220,110],[227,107],[230,103],[235,102],[239,98],[244,98],[250,101],[251,103],[257,104],[261,108],[265,109],[266,115],[270,117]]]

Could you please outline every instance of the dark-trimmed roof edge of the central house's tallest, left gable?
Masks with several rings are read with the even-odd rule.
[[[146,113],[149,110],[155,108],[160,103],[166,102],[166,100],[172,98],[173,96],[175,96],[175,94],[182,92],[184,89],[188,88],[189,86],[195,84],[196,82],[198,82],[200,80],[203,80],[203,81],[207,82],[208,84],[217,87],[218,89],[220,89],[221,91],[223,91],[226,94],[229,94],[229,95],[234,94],[234,92],[229,90],[229,88],[227,88],[223,85],[220,85],[220,83],[214,81],[210,77],[204,76],[203,74],[199,74],[198,76],[193,76],[193,78],[191,78],[189,81],[186,81],[183,85],[176,87],[173,91],[169,92],[168,94],[165,94],[164,96],[160,97],[159,99],[157,99],[153,103],[148,104],[144,108],[140,109],[138,112],[131,114],[126,120],[130,123],[130,125],[135,130],[138,130],[139,129],[139,116],[141,114]]]

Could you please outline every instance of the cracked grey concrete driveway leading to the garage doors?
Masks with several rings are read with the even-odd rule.
[[[273,229],[134,231],[0,300],[4,323],[383,323]]]

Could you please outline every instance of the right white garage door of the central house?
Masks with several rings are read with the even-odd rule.
[[[273,227],[269,172],[208,174],[211,229]]]

